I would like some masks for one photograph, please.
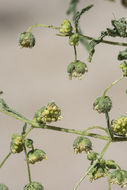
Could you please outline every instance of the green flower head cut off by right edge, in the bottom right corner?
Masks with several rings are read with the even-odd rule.
[[[121,187],[126,187],[127,184],[127,171],[125,170],[115,170],[109,174],[110,183],[120,185]]]

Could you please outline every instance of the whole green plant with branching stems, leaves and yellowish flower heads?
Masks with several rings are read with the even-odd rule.
[[[98,37],[97,39],[83,35],[79,27],[79,20],[82,14],[90,10],[93,5],[89,5],[83,8],[81,11],[77,11],[77,3],[78,0],[72,0],[67,11],[68,14],[73,14],[74,24],[71,23],[68,19],[65,19],[60,27],[54,27],[52,25],[48,26],[43,24],[32,25],[28,28],[26,32],[21,33],[19,37],[19,45],[22,48],[32,48],[35,46],[35,37],[31,33],[31,31],[33,28],[36,27],[55,29],[58,32],[57,36],[68,38],[69,45],[72,46],[74,49],[74,60],[67,67],[69,79],[72,79],[73,77],[81,79],[82,76],[88,71],[86,63],[80,61],[77,58],[77,46],[80,42],[88,50],[89,62],[92,61],[92,57],[95,53],[95,48],[98,44],[105,43],[118,46],[127,46],[127,43],[104,40],[106,36],[121,38],[127,37],[127,22],[125,18],[112,20],[112,28],[107,28],[102,31],[100,37]],[[122,1],[122,3],[125,6],[125,1]],[[120,187],[125,187],[127,184],[127,171],[121,169],[121,167],[114,160],[105,160],[103,156],[112,142],[127,141],[127,117],[120,116],[119,118],[110,121],[109,112],[112,108],[112,100],[109,96],[107,96],[107,92],[110,88],[112,88],[123,78],[127,77],[126,59],[127,49],[120,51],[118,54],[118,60],[122,61],[122,63],[120,64],[120,68],[122,69],[122,76],[112,82],[104,90],[103,94],[96,98],[96,100],[93,102],[93,109],[96,110],[99,114],[105,115],[107,123],[106,128],[101,126],[92,126],[88,127],[84,131],[79,131],[50,125],[50,123],[57,122],[58,120],[62,119],[61,109],[56,105],[55,102],[48,103],[46,106],[43,106],[39,110],[37,110],[33,116],[33,120],[31,121],[22,114],[10,108],[7,103],[1,98],[0,111],[6,115],[23,121],[24,125],[21,134],[15,133],[12,135],[12,139],[10,142],[10,151],[0,164],[0,168],[12,154],[18,154],[24,151],[29,178],[29,184],[25,185],[24,190],[43,190],[44,187],[40,183],[33,182],[31,180],[30,164],[35,164],[36,162],[45,160],[47,159],[47,156],[43,150],[34,148],[33,140],[28,139],[27,135],[34,128],[50,129],[79,135],[79,137],[77,137],[73,142],[74,152],[76,154],[84,152],[87,155],[87,159],[90,161],[90,166],[88,167],[88,170],[76,184],[74,190],[78,188],[79,184],[84,180],[86,176],[88,176],[91,182],[101,177],[107,178],[109,190],[111,189],[111,183],[117,184]],[[27,125],[30,125],[30,127],[28,127]],[[105,136],[95,133],[88,133],[88,131],[92,129],[103,130],[105,132]],[[106,145],[100,153],[93,151],[92,142],[88,137],[98,138],[107,141]],[[1,184],[0,189],[6,190],[8,188],[4,184]]]

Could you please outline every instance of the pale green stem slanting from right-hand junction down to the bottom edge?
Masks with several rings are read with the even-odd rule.
[[[88,173],[91,171],[92,168],[94,168],[94,166],[98,163],[98,160],[100,158],[102,158],[102,156],[104,155],[104,153],[106,152],[107,148],[109,147],[111,143],[111,140],[109,140],[105,147],[103,148],[103,150],[101,151],[101,153],[99,154],[97,160],[94,161],[94,163],[88,168],[88,170],[86,171],[86,173],[82,176],[82,178],[78,181],[78,183],[76,184],[74,190],[76,190],[78,188],[78,186],[81,184],[81,182],[85,179],[85,177],[88,175]]]

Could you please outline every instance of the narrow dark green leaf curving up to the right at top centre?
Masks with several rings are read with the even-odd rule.
[[[93,5],[89,5],[85,8],[83,8],[80,12],[77,11],[76,14],[74,15],[74,24],[75,24],[75,28],[76,28],[77,32],[78,32],[79,19],[80,19],[81,15],[84,14],[89,9],[91,9],[92,7],[93,7]]]

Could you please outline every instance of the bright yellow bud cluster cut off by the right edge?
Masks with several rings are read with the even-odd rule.
[[[127,136],[127,117],[121,116],[111,122],[112,131],[118,136]]]

